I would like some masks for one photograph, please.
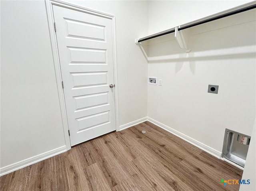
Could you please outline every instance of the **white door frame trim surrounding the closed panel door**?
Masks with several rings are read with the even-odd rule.
[[[65,137],[65,143],[67,150],[71,149],[70,144],[70,137],[68,135],[68,118],[67,118],[67,112],[66,112],[66,105],[65,105],[65,99],[64,99],[64,91],[62,89],[62,76],[60,71],[60,60],[58,55],[58,45],[57,45],[57,38],[56,33],[54,30],[54,17],[53,17],[53,10],[52,5],[62,6],[64,8],[69,8],[72,10],[93,14],[96,16],[104,17],[111,19],[112,21],[112,39],[113,39],[113,61],[114,61],[114,84],[115,84],[115,90],[114,90],[114,96],[115,96],[115,117],[116,117],[116,131],[119,131],[119,112],[118,112],[118,80],[117,80],[117,58],[116,58],[116,18],[113,15],[98,12],[95,10],[87,9],[84,7],[72,5],[66,2],[62,2],[59,0],[45,0],[46,3],[46,11],[48,16],[48,25],[50,29],[50,39],[52,43],[52,54],[54,59],[54,67],[55,67],[55,73],[56,73],[56,82],[57,82],[57,88],[58,88],[58,94],[60,99],[60,109],[61,109],[61,115],[62,115],[62,124],[63,124],[63,131],[64,131],[64,137]]]

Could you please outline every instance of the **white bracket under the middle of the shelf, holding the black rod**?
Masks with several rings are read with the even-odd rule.
[[[191,50],[191,32],[190,29],[186,30],[178,30],[179,27],[175,27],[174,37],[178,42],[178,45],[181,49],[185,49],[186,52],[190,52]]]

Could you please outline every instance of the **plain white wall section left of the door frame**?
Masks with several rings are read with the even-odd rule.
[[[1,1],[1,173],[62,146],[45,4]]]

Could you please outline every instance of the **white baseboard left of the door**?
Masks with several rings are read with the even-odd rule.
[[[11,173],[13,171],[16,171],[18,169],[22,169],[26,166],[32,165],[34,163],[37,163],[39,161],[42,161],[44,159],[53,157],[55,155],[61,154],[61,153],[66,152],[66,151],[67,151],[66,146],[62,146],[62,147],[56,148],[54,150],[45,152],[43,154],[40,154],[40,155],[31,157],[31,158],[28,158],[28,159],[19,161],[17,163],[11,164],[11,165],[8,165],[6,167],[2,167],[0,169],[0,176],[6,175],[6,174]]]

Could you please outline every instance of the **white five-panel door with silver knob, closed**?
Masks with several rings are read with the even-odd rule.
[[[71,146],[116,130],[112,22],[53,5]]]

